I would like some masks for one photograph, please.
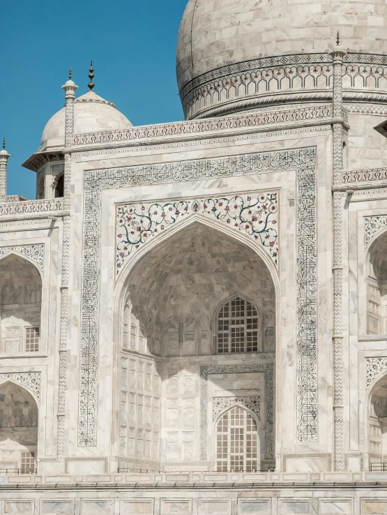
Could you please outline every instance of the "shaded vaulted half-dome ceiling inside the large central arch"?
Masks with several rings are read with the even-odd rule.
[[[273,308],[271,275],[249,246],[207,225],[195,223],[159,244],[128,278],[134,308],[170,313],[212,314],[222,300],[244,295],[257,306]],[[146,315],[147,316],[147,315]]]

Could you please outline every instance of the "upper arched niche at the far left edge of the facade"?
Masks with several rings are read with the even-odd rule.
[[[11,253],[0,260],[0,352],[37,352],[42,278],[29,260]]]

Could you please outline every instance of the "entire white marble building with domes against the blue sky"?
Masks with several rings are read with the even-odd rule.
[[[183,122],[89,76],[0,151],[0,513],[387,514],[386,0],[189,0]]]

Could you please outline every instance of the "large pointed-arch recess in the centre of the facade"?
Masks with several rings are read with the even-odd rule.
[[[215,421],[234,403],[260,421],[254,468],[273,466],[275,287],[259,253],[193,223],[139,260],[121,299],[120,468],[216,470]]]

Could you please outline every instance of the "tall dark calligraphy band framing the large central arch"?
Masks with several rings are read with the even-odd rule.
[[[105,189],[296,172],[298,267],[298,441],[317,440],[317,216],[316,147],[84,172],[78,445],[97,445],[100,234]],[[307,313],[305,315],[305,313]],[[305,319],[305,317],[307,319]],[[309,366],[310,364],[310,366]],[[309,368],[308,368],[309,367]],[[306,381],[306,383],[305,383]],[[306,389],[305,384],[312,388]],[[308,411],[309,410],[309,411]],[[305,419],[308,421],[305,430]],[[314,440],[308,433],[315,428]]]

